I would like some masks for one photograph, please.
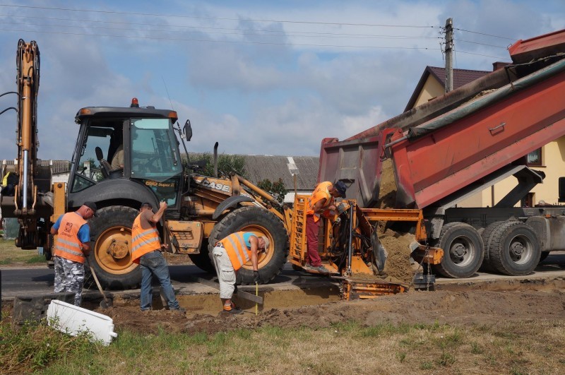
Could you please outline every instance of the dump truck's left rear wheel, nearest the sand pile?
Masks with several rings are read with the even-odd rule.
[[[471,225],[450,222],[441,229],[439,247],[444,258],[434,268],[448,278],[469,278],[481,266],[484,256],[482,239]]]

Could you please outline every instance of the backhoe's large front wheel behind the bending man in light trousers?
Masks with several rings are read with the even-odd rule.
[[[259,254],[258,270],[261,284],[273,280],[280,273],[287,261],[289,245],[288,234],[283,222],[264,208],[242,207],[225,215],[215,226],[208,239],[210,254],[216,242],[234,232],[254,232],[266,236],[270,242],[268,251]],[[251,261],[237,271],[236,282],[239,285],[254,284]]]

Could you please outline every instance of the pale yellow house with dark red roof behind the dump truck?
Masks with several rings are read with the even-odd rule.
[[[493,71],[502,69],[508,63],[495,62]],[[453,89],[460,88],[467,83],[477,80],[491,71],[472,71],[468,69],[453,69]],[[424,104],[434,97],[445,94],[446,70],[436,66],[426,66],[424,73],[418,81],[416,88],[405,111]],[[547,145],[528,154],[528,166],[545,173],[543,184],[535,186],[528,196],[521,202],[522,206],[532,207],[540,201],[557,204],[559,197],[559,177],[565,170],[565,137],[552,141]],[[484,189],[480,194],[475,194],[458,204],[459,207],[487,207],[494,206],[501,198],[516,186],[516,178],[508,177],[503,181]]]

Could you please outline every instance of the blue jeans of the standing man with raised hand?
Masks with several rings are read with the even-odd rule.
[[[179,309],[179,302],[177,297],[174,297],[174,290],[171,285],[171,278],[169,277],[169,266],[167,261],[163,258],[160,251],[151,251],[139,258],[139,265],[141,266],[141,295],[139,297],[141,310],[151,309],[151,301],[153,299],[153,287],[151,287],[151,280],[153,276],[159,279],[163,294],[169,309]]]

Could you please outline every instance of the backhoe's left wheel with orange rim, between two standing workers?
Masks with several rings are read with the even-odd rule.
[[[135,289],[141,282],[141,269],[131,261],[131,226],[138,210],[109,206],[96,214],[90,220],[90,266],[104,289]]]

